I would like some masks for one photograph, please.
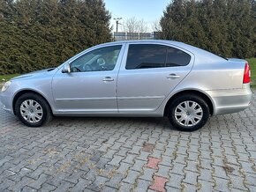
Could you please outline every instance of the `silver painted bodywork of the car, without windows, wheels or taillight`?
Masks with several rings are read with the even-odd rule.
[[[129,44],[163,44],[180,48],[192,56],[185,67],[125,70]],[[117,65],[111,71],[64,74],[66,63],[80,55],[109,45],[122,44]],[[221,57],[177,41],[121,41],[89,48],[57,67],[11,79],[11,86],[0,93],[4,109],[13,113],[12,102],[21,91],[40,93],[55,115],[163,116],[167,102],[178,92],[204,93],[214,107],[214,114],[234,113],[250,105],[250,84],[243,85],[245,60]],[[176,74],[180,78],[169,78]],[[84,76],[85,75],[85,76]],[[150,75],[150,76],[149,76]],[[90,78],[88,78],[90,77]],[[103,78],[114,78],[105,83]],[[83,87],[84,83],[87,90]],[[93,85],[96,84],[96,85]]]

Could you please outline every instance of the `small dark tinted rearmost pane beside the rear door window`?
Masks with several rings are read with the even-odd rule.
[[[185,66],[190,63],[191,55],[177,48],[168,48],[166,67]]]

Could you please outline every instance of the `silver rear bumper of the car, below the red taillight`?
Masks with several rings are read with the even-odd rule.
[[[215,102],[215,115],[232,114],[250,107],[252,91],[250,84],[243,85],[242,89],[207,91]]]

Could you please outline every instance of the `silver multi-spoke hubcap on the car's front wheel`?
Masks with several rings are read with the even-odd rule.
[[[20,105],[20,114],[26,122],[40,122],[42,118],[42,107],[35,100],[24,100]]]

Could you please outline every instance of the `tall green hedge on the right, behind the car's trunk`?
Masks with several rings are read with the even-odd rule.
[[[256,55],[256,3],[174,0],[161,19],[162,39],[184,41],[217,55]]]

